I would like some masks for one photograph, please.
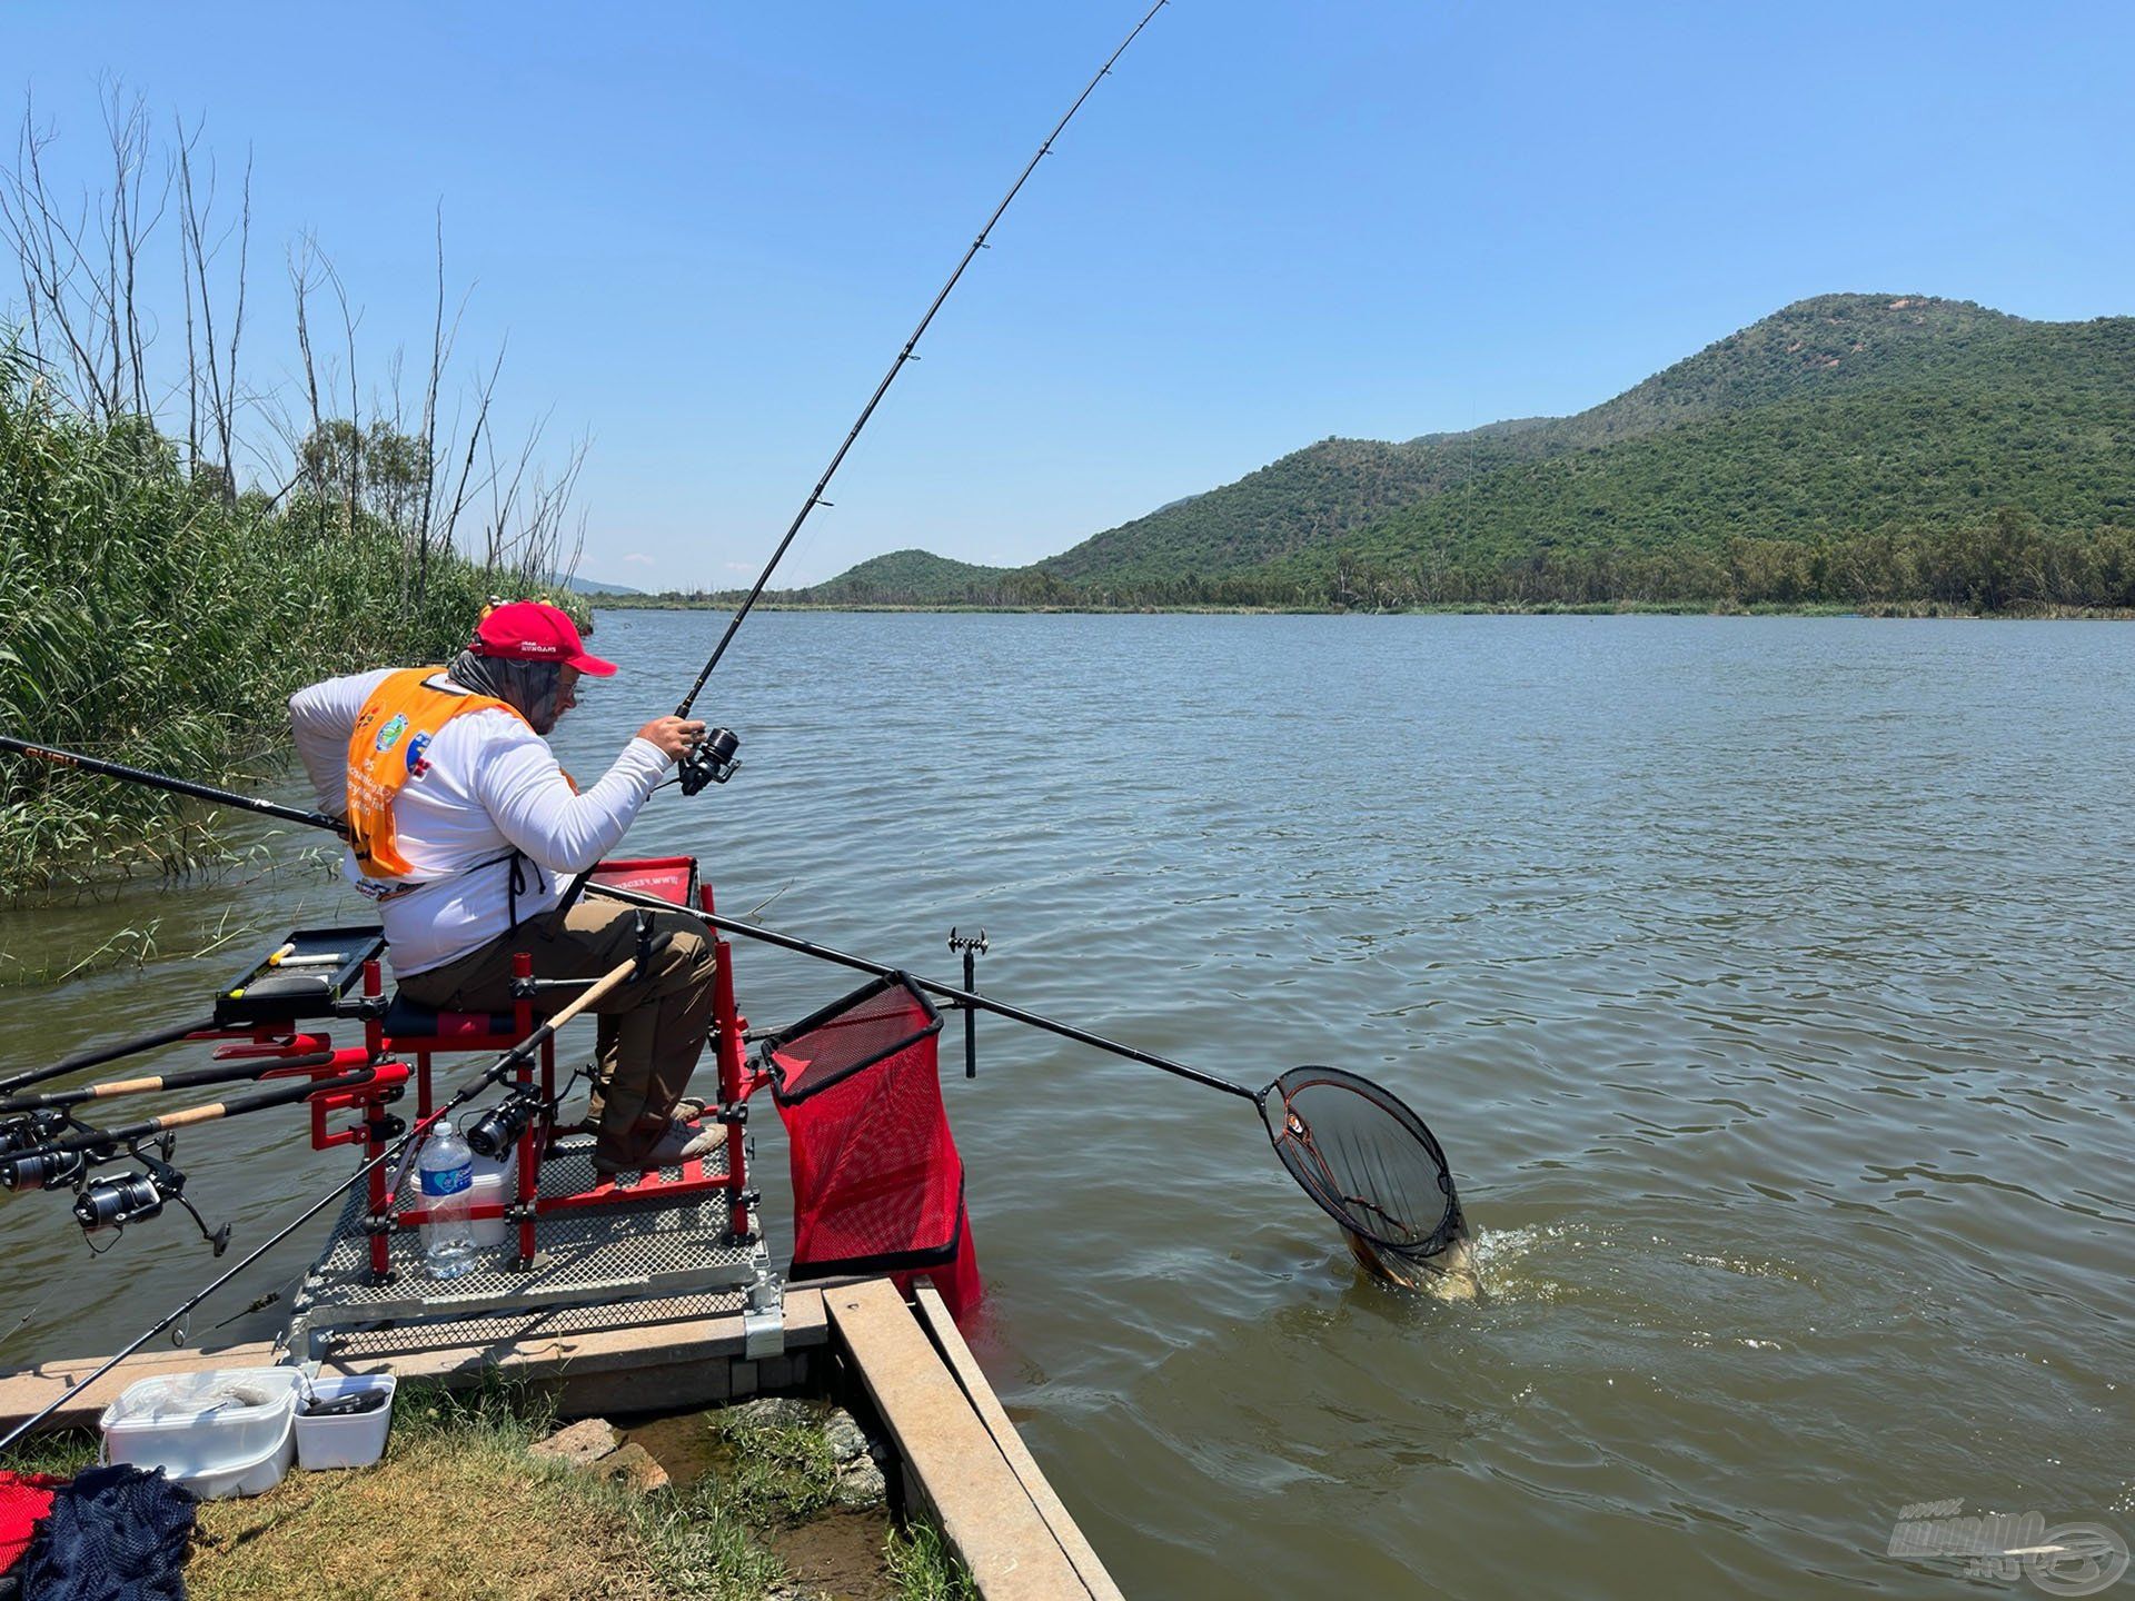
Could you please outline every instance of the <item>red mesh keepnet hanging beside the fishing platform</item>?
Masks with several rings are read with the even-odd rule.
[[[766,1044],[792,1148],[794,1279],[931,1272],[950,1313],[978,1302],[963,1159],[942,1106],[942,1018],[882,980]]]

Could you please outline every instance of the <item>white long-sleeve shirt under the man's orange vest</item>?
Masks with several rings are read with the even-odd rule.
[[[320,811],[348,813],[348,736],[363,702],[391,675],[393,668],[380,668],[327,679],[290,696],[297,756],[318,790]],[[429,683],[465,694],[444,675]],[[495,707],[453,717],[423,756],[429,762],[423,777],[393,798],[395,845],[421,888],[378,907],[401,978],[442,967],[510,929],[512,869],[497,858],[512,847],[542,869],[538,884],[523,873],[519,918],[553,907],[557,879],[615,850],[668,766],[666,751],[632,739],[600,783],[572,794],[549,743]],[[367,882],[354,852],[344,856],[342,875]]]

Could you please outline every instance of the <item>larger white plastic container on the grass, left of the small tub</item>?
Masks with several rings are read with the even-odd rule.
[[[297,1368],[141,1379],[96,1420],[107,1462],[160,1467],[196,1496],[260,1494],[295,1458]]]

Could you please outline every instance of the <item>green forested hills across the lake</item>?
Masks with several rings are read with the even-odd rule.
[[[867,600],[873,566],[794,598]],[[1576,416],[1322,440],[1031,568],[954,568],[931,600],[2129,606],[2135,320],[1823,295]]]

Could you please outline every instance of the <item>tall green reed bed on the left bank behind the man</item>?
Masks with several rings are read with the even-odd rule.
[[[90,416],[0,344],[0,730],[258,783],[295,687],[442,660],[525,581],[436,549],[414,564],[361,506],[224,493],[149,421]],[[199,805],[0,758],[0,899],[211,850]]]

